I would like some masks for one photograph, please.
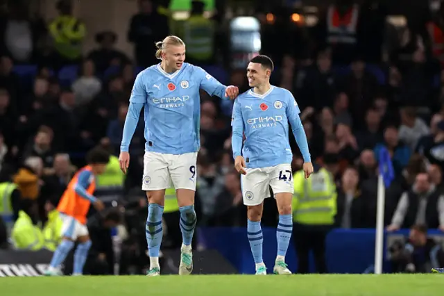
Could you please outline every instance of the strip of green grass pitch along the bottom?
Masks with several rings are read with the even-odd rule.
[[[442,274],[191,275],[188,277],[4,277],[5,296],[434,296]]]

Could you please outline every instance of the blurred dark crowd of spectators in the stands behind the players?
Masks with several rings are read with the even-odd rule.
[[[158,63],[154,42],[169,34],[185,41],[187,61],[241,91],[248,89],[247,61],[259,53],[273,58],[272,82],[298,101],[313,162],[334,176],[332,227],[375,227],[378,151],[386,147],[395,171],[386,188],[387,229],[421,230],[418,224],[425,224],[444,231],[440,1],[260,1],[260,6],[257,1],[112,1],[116,9],[135,11],[119,23],[124,33],[94,23],[101,11],[90,11],[87,18],[76,14],[78,1],[2,2],[1,246],[12,247],[8,238],[21,213],[51,240],[57,227],[53,209],[76,168],[85,165],[85,153],[101,146],[119,155],[135,75]],[[56,15],[45,15],[42,6],[55,8]],[[244,226],[246,208],[232,163],[232,102],[203,92],[201,110],[199,224]],[[110,211],[92,212],[89,222],[91,256],[113,262],[119,240],[123,272],[147,263],[140,123],[128,174],[121,174],[114,157],[98,179],[96,196]],[[292,138],[291,144],[296,172],[302,158]],[[274,227],[277,217],[275,202],[267,200],[262,223]],[[176,247],[178,215],[166,220],[173,227],[165,231],[164,247]],[[108,228],[117,223],[119,236],[110,236]]]

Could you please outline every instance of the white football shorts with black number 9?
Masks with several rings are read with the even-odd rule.
[[[163,154],[145,151],[142,190],[196,190],[197,152]]]

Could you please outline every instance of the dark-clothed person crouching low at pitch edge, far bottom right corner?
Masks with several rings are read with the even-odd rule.
[[[395,242],[390,247],[392,272],[429,272],[444,266],[444,251],[433,238],[427,238],[427,227],[416,224],[410,229],[406,243]]]

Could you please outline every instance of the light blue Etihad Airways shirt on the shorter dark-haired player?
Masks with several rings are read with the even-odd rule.
[[[244,156],[246,167],[273,167],[291,163],[289,122],[302,157],[310,162],[307,137],[293,94],[271,85],[264,94],[248,90],[234,101],[232,112],[233,156]],[[242,138],[245,134],[244,148]]]

